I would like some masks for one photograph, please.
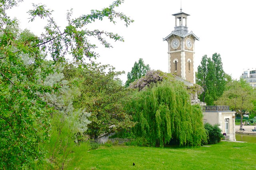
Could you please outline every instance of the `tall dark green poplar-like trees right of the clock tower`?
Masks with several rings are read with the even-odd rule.
[[[230,76],[225,74],[222,68],[220,54],[214,53],[212,59],[204,55],[196,74],[196,83],[203,88],[199,99],[207,105],[214,105],[214,101],[222,96],[228,81]]]

